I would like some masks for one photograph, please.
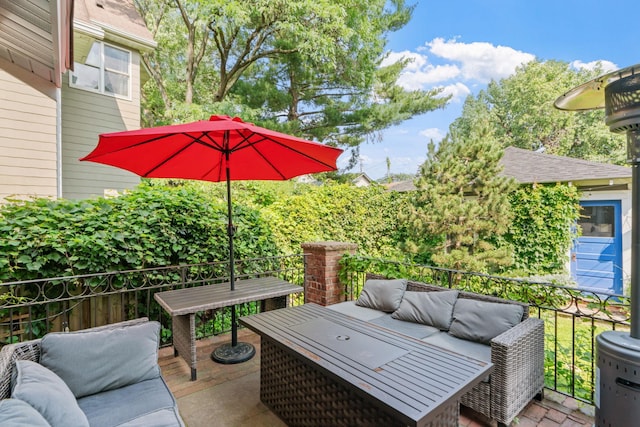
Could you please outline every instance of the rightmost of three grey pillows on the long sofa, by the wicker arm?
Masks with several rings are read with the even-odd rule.
[[[520,323],[522,313],[523,307],[517,304],[458,298],[449,333],[465,340],[490,344],[492,339]]]

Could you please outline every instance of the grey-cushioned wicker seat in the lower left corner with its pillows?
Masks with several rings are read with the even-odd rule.
[[[4,346],[0,425],[183,427],[159,330],[142,318]]]

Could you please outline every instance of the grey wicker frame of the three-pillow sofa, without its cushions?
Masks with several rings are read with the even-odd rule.
[[[367,279],[384,276],[367,274]],[[409,281],[408,291],[437,292],[445,288]],[[460,292],[458,298],[518,304],[524,307],[522,322],[491,341],[493,373],[465,394],[461,403],[499,426],[509,425],[534,398],[541,400],[544,390],[544,322],[529,317],[529,305],[493,296]]]

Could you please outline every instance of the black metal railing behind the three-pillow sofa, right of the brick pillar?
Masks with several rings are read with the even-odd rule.
[[[356,267],[344,273],[349,299],[359,295],[366,273],[377,273],[529,303],[530,315],[545,321],[545,386],[591,404],[596,335],[629,330],[630,300],[624,295],[379,259],[350,265]]]

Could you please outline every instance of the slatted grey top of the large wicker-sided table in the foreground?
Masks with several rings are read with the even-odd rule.
[[[242,317],[240,323],[410,425],[428,423],[493,369],[316,304]]]

